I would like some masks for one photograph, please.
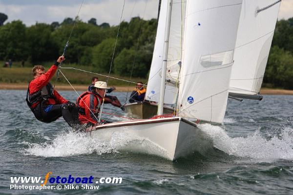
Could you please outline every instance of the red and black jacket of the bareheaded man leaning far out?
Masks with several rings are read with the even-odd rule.
[[[45,104],[63,104],[67,103],[68,100],[63,98],[56,90],[53,89],[52,84],[49,82],[54,76],[58,66],[52,65],[51,68],[39,78],[34,78],[28,86],[27,94],[28,101],[27,104],[34,110],[37,105],[42,102]]]

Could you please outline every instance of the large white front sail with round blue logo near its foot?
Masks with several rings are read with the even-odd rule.
[[[242,0],[187,0],[179,116],[223,122]]]

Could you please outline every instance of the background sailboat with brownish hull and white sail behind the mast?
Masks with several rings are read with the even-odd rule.
[[[127,116],[133,118],[150,118],[157,115],[162,73],[164,35],[167,20],[167,0],[160,3],[158,27],[154,45],[153,57],[147,81],[146,96],[142,102],[125,105]],[[169,29],[167,77],[164,97],[164,114],[172,114],[178,94],[178,78],[182,57],[182,42],[185,21],[186,1],[174,1],[171,11]],[[171,82],[172,80],[172,82]]]

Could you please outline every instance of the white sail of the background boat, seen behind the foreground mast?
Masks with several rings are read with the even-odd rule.
[[[173,104],[177,100],[178,87],[176,87],[176,81],[179,75],[179,64],[182,55],[185,7],[186,0],[173,0],[172,2],[166,77],[171,82],[167,83],[164,98],[164,103],[167,104]],[[167,0],[162,0],[153,59],[146,89],[146,100],[149,101],[159,101],[166,18]]]

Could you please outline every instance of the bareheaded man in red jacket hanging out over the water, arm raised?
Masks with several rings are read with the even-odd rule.
[[[63,98],[49,82],[63,60],[63,56],[59,57],[47,72],[42,65],[33,67],[34,79],[29,83],[26,102],[38,120],[48,123],[63,116],[73,127],[77,119],[76,105]]]

